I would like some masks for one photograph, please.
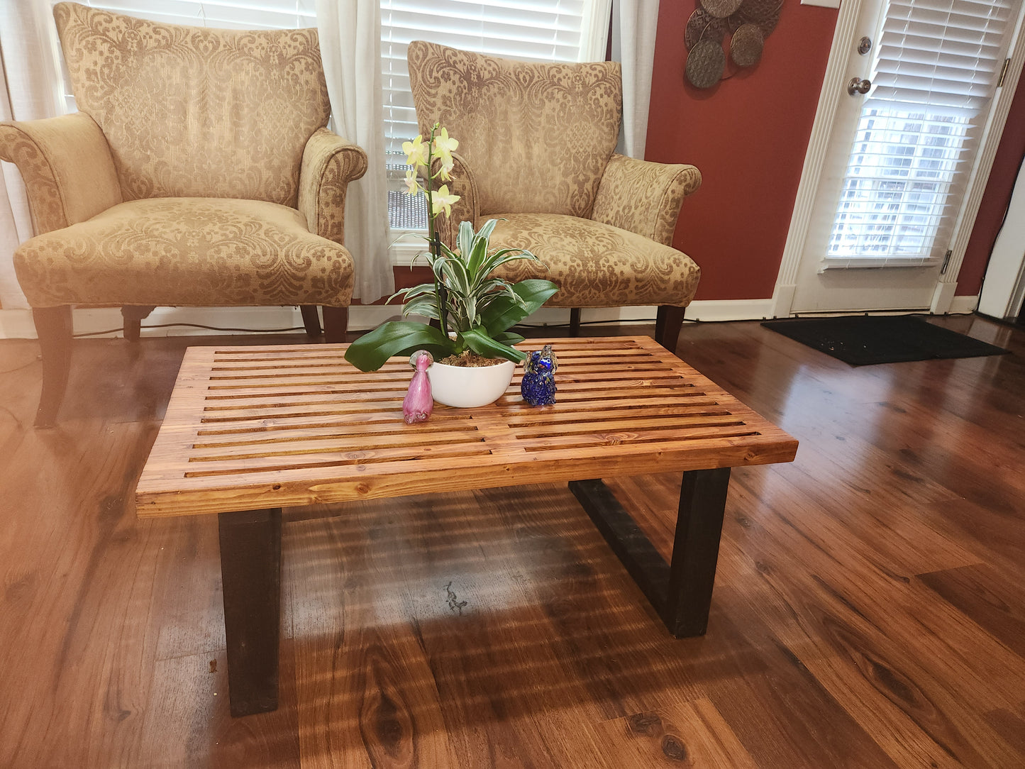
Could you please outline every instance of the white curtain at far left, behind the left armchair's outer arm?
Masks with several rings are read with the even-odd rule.
[[[0,0],[0,120],[36,120],[63,112],[49,6]],[[0,308],[27,308],[11,257],[33,236],[22,174],[0,163]]]

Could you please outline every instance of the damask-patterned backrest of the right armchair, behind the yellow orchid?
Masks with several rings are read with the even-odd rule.
[[[423,41],[407,55],[420,132],[437,121],[459,140],[481,214],[590,216],[619,136],[617,63],[532,64]]]

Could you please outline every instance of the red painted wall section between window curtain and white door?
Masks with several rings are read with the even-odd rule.
[[[684,81],[684,30],[697,4],[660,3],[645,157],[701,170],[701,189],[684,202],[673,239],[701,266],[696,298],[767,298],[783,256],[837,11],[787,0],[762,60],[699,90]]]

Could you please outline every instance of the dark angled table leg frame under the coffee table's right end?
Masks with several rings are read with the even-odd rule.
[[[667,564],[602,481],[569,484],[613,553],[676,638],[703,636],[708,626],[729,486],[729,468],[684,474],[672,562]]]

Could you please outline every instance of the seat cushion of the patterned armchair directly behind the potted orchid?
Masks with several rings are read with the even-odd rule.
[[[511,281],[547,278],[559,292],[551,307],[687,307],[701,270],[690,256],[641,235],[576,216],[503,213],[491,236],[494,248],[527,248],[547,266],[512,261],[497,272]]]

